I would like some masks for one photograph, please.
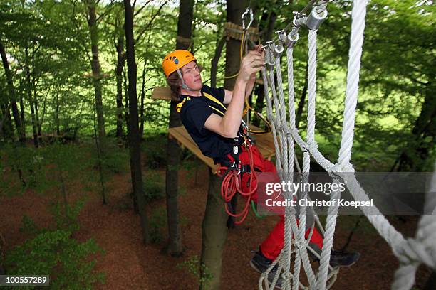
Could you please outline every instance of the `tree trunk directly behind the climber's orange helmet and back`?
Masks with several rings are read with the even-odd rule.
[[[177,42],[176,49],[187,49],[189,43],[180,41],[181,39],[191,39],[192,18],[194,15],[194,1],[180,0],[179,20],[177,22]],[[168,127],[182,126],[179,113],[175,106],[177,102],[170,104],[170,122]],[[179,192],[178,168],[182,150],[175,139],[167,139],[167,168],[165,172],[165,195],[167,197],[167,221],[168,221],[168,242],[167,253],[173,256],[182,254],[182,233],[179,222],[179,204],[177,195]]]

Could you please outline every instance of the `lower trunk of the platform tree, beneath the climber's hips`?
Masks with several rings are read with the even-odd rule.
[[[227,213],[219,197],[222,178],[209,171],[209,190],[202,223],[202,260],[200,290],[219,290],[222,272],[222,251],[227,239]]]

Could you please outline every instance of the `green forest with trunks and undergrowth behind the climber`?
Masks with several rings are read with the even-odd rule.
[[[86,192],[110,203],[110,180],[118,173],[131,173],[130,196],[141,217],[142,238],[153,240],[153,217],[145,203],[165,196],[165,178],[153,171],[167,166],[168,156],[174,155],[168,153],[172,147],[167,144],[170,102],[151,98],[155,87],[166,85],[162,58],[176,48],[177,41],[185,42],[204,68],[204,83],[229,87],[224,81],[224,75],[232,73],[226,71],[224,23],[232,2],[254,9],[253,26],[259,28],[261,43],[273,38],[294,17],[293,11],[307,4],[0,0],[0,198],[26,198],[29,190],[50,196],[56,220],[56,225],[38,227],[27,215],[2,213],[20,215],[27,240],[20,247],[3,242],[8,246],[0,247],[4,257],[0,269],[54,271],[56,263],[32,264],[25,254],[39,245],[32,243],[50,240],[47,247],[73,249],[73,255],[65,252],[63,258],[50,259],[64,259],[66,276],[76,275],[78,261],[99,247],[93,240],[83,244],[71,238],[80,227],[78,215],[85,200],[73,197],[68,188],[82,183]],[[341,140],[351,3],[331,1],[328,18],[318,30],[316,141],[330,160],[336,159]],[[192,19],[180,17],[187,6]],[[356,171],[433,171],[434,13],[433,2],[425,0],[374,0],[368,5],[352,156]],[[177,28],[184,25],[180,21],[192,25],[187,38],[177,36]],[[303,135],[306,33],[301,31],[294,49],[297,126]],[[232,61],[239,62],[239,55]],[[265,114],[261,91],[258,85],[249,102]],[[250,119],[262,126],[254,116]],[[145,156],[142,163],[140,154]],[[175,155],[185,169],[199,166],[189,151]],[[167,198],[174,195],[167,193]],[[168,215],[167,222],[171,218]],[[6,230],[0,228],[2,232]],[[48,253],[41,249],[38,254]],[[91,268],[81,266],[81,271],[90,273]],[[90,284],[103,279],[101,275],[88,278]],[[61,280],[59,284],[68,279]]]

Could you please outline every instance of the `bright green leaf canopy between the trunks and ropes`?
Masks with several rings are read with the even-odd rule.
[[[250,5],[255,10],[254,25],[259,24],[264,32],[263,37],[274,13],[277,19],[274,31],[278,31],[293,18],[292,11],[299,11],[306,4],[307,1],[251,1]],[[118,110],[115,103],[117,82],[113,73],[118,54],[114,44],[124,35],[123,5],[120,2],[109,4],[108,1],[100,1],[96,9],[97,14],[102,16],[98,21],[98,32],[100,66],[105,74],[100,80],[105,123],[107,131],[114,132]],[[151,100],[150,95],[153,87],[165,85],[161,60],[166,52],[175,48],[178,7],[152,1],[147,9],[140,9],[140,5],[135,9],[137,92],[141,121],[145,122],[144,131],[147,134],[166,131],[169,102]],[[328,17],[318,30],[316,137],[321,140],[320,149],[331,160],[337,157],[341,139],[350,12],[350,1],[331,1],[328,4]],[[436,61],[434,13],[432,1],[375,0],[368,5],[352,160],[359,171],[389,170],[402,151],[417,146],[430,152],[430,158],[412,154],[412,159],[426,159],[418,167],[429,168],[432,164],[435,157],[435,134],[432,134],[434,129],[430,125],[432,120],[427,118],[429,122],[424,133],[412,131],[425,95],[435,94],[432,81],[435,78]],[[13,60],[10,61],[16,87],[16,96],[13,97],[23,97],[28,134],[31,132],[31,114],[27,92],[31,89],[40,108],[43,132],[73,130],[76,133],[77,129],[81,136],[93,135],[95,104],[92,97],[93,82],[89,77],[90,36],[84,15],[86,7],[83,1],[0,1],[0,18],[4,19],[0,23],[0,35],[7,55]],[[210,60],[214,57],[217,41],[224,36],[225,21],[225,1],[195,2],[190,49],[204,67],[202,77],[205,84],[209,84]],[[305,83],[306,35],[307,30],[301,29],[299,42],[294,47],[296,105]],[[30,84],[26,79],[26,63],[30,65]],[[218,63],[218,86],[224,84],[224,63],[222,53]],[[286,73],[285,66],[283,72]],[[1,92],[8,91],[6,85],[6,77],[0,70]],[[286,85],[285,78],[285,89]],[[121,90],[125,108],[124,83]],[[3,104],[7,97],[7,94],[1,95],[0,103]],[[124,113],[125,109],[121,111]],[[42,115],[45,118],[41,118]],[[300,124],[302,133],[305,117],[306,107]],[[123,131],[126,131],[124,120]],[[415,139],[419,142],[412,144],[410,140],[416,134]],[[147,136],[142,148],[149,168],[165,165],[166,138],[158,136],[155,141]],[[105,170],[111,173],[125,170],[119,162],[123,154],[117,156],[118,153],[111,153],[108,159],[103,160]],[[22,163],[21,160],[17,162]],[[20,164],[18,168],[24,166]],[[18,176],[16,171],[12,172],[9,176]],[[35,185],[35,182],[39,182],[38,173],[29,172],[23,172],[25,186],[41,186],[41,183]],[[19,192],[21,183],[6,183],[7,191]],[[6,189],[2,188],[2,193],[3,190]]]

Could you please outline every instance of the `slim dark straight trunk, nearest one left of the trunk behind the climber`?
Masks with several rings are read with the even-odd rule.
[[[129,78],[129,151],[130,151],[130,171],[132,174],[133,194],[136,196],[140,223],[142,228],[142,240],[145,244],[150,242],[147,223],[147,208],[145,195],[142,186],[141,151],[137,114],[137,93],[136,93],[136,63],[135,63],[135,43],[133,38],[133,11],[130,0],[124,0],[125,8],[125,43]]]

